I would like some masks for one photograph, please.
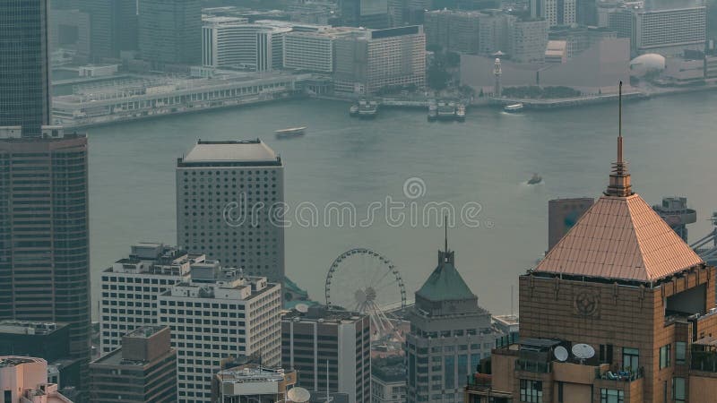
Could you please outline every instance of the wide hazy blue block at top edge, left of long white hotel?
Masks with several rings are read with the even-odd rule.
[[[202,1],[142,0],[140,56],[155,67],[202,61]]]

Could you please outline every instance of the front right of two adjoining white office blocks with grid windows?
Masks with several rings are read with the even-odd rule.
[[[192,279],[158,299],[160,325],[177,349],[180,403],[212,401],[212,378],[222,362],[249,356],[281,365],[281,286],[219,262],[192,265]]]

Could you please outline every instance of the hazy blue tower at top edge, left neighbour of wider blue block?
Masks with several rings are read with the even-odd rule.
[[[138,13],[133,0],[82,0],[80,11],[90,16],[90,58],[117,59],[137,50]]]

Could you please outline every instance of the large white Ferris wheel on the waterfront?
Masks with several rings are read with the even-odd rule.
[[[381,253],[355,248],[341,253],[326,274],[326,306],[365,313],[376,338],[393,335],[387,309],[406,307],[406,287],[396,266]]]

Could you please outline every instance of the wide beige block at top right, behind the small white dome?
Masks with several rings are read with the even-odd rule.
[[[688,50],[704,51],[707,8],[703,5],[635,12],[635,51],[681,56]]]

